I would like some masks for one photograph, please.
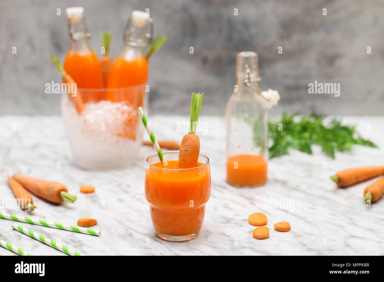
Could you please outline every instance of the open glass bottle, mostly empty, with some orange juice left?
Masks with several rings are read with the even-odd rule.
[[[240,187],[267,180],[268,112],[258,87],[258,56],[237,54],[237,91],[227,104],[227,182]]]

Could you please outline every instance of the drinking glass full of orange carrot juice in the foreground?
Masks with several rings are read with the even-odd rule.
[[[197,237],[203,224],[211,193],[209,159],[200,154],[197,167],[179,169],[179,151],[163,154],[167,165],[157,154],[146,161],[145,196],[152,223],[161,239],[187,241]]]

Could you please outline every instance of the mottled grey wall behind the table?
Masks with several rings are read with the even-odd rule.
[[[252,50],[260,57],[260,85],[281,95],[273,113],[382,114],[381,0],[2,0],[0,114],[59,112],[59,97],[45,94],[44,84],[60,80],[49,55],[64,58],[64,10],[74,5],[85,8],[94,50],[99,50],[99,31],[113,32],[113,56],[122,48],[131,11],[150,9],[155,33],[169,38],[151,58],[152,113],[188,113],[190,93],[199,91],[206,94],[205,114],[222,114],[236,83],[235,55]],[[56,8],[61,8],[61,16],[56,16]],[[12,54],[13,46],[17,54]],[[194,54],[189,54],[190,46]],[[277,53],[279,46],[283,54]],[[372,54],[366,53],[367,46]],[[308,83],[315,80],[340,83],[340,97],[308,94]]]

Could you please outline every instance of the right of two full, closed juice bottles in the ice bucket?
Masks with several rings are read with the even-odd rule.
[[[142,106],[148,79],[148,61],[144,51],[152,42],[152,29],[152,19],[147,13],[132,12],[124,31],[124,49],[109,72],[106,100],[127,101],[135,109]]]

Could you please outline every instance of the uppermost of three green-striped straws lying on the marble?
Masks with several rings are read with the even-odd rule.
[[[61,223],[45,221],[45,220],[35,219],[35,218],[27,218],[24,216],[17,216],[15,214],[0,213],[0,218],[30,223],[30,224],[35,224],[35,225],[40,225],[40,226],[45,226],[45,227],[51,227],[51,228],[56,228],[56,229],[61,229],[61,230],[73,231],[73,232],[77,232],[77,233],[90,234],[90,235],[94,235],[94,236],[100,236],[101,235],[100,230],[95,230],[95,229],[91,229],[91,228],[84,228],[84,227],[79,227],[79,226],[73,226],[73,225],[68,225],[68,224],[61,224]]]

